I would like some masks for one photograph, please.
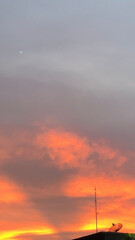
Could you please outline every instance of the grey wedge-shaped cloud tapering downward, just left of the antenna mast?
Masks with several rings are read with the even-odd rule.
[[[70,198],[70,197],[49,197],[49,198],[32,198],[35,208],[40,210],[44,217],[46,217],[56,227],[75,224],[78,220],[83,222],[85,216],[80,214],[83,209],[90,204],[93,205],[93,197],[90,198]],[[59,221],[58,221],[59,219]]]

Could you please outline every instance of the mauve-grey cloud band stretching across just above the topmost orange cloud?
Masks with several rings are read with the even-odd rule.
[[[31,127],[34,122],[62,127],[115,147],[134,149],[134,94],[93,91],[61,81],[3,80],[0,83],[1,123]],[[9,90],[10,89],[10,90]]]

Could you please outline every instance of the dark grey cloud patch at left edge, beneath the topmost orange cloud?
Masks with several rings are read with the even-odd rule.
[[[8,162],[1,167],[1,173],[7,175],[17,184],[21,184],[25,189],[29,187],[42,188],[65,181],[76,170],[60,170],[55,167],[46,167],[44,163],[38,161],[14,161]]]

